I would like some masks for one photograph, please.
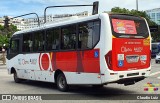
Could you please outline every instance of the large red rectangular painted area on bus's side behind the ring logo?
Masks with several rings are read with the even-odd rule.
[[[53,55],[51,58],[52,69],[54,71],[56,69],[60,69],[65,72],[99,73],[99,56],[95,57],[95,51],[98,51],[99,53],[99,49],[86,51],[56,52],[54,53],[54,55],[56,55],[56,58],[53,58]],[[55,66],[54,61],[56,61],[56,69],[53,68]]]

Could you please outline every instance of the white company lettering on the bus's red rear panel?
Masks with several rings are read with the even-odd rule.
[[[142,52],[143,50],[143,47],[134,47],[133,49],[132,48],[129,48],[129,47],[121,47],[121,52],[123,53],[126,53],[126,52],[132,52],[132,51],[135,51],[135,52]]]

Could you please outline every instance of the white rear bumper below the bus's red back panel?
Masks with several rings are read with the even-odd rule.
[[[150,69],[132,70],[132,71],[109,71],[106,73],[105,80],[102,83],[119,83],[127,84],[127,82],[138,82],[144,78],[150,76]]]

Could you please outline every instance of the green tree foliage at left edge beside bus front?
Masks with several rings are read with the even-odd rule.
[[[0,25],[0,47],[2,47],[3,44],[6,44],[6,47],[8,47],[9,40],[16,31],[18,31],[18,29],[14,25],[10,25],[9,28]]]

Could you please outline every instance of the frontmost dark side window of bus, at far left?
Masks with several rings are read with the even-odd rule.
[[[11,54],[18,54],[19,53],[19,40],[18,39],[11,41],[10,53]]]

